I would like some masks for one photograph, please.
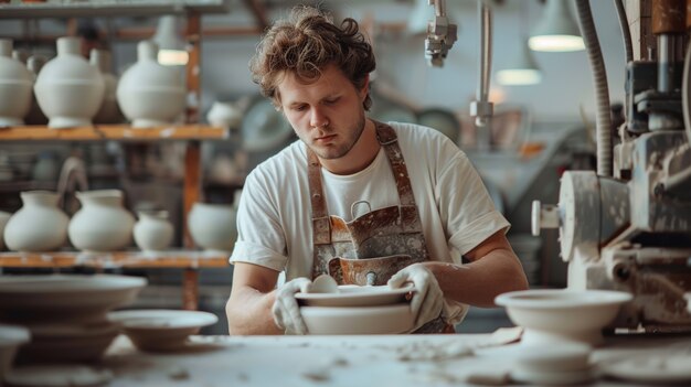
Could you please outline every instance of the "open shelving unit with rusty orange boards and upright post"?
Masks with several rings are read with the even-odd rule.
[[[228,0],[47,0],[21,2],[12,0],[0,4],[0,19],[41,19],[81,17],[127,17],[183,14],[187,19],[185,37],[189,62],[185,71],[188,106],[185,125],[135,129],[127,125],[95,125],[71,129],[50,129],[43,126],[0,128],[0,142],[6,141],[184,141],[183,219],[201,196],[201,141],[227,139],[221,128],[199,125],[201,14],[228,11]],[[0,267],[74,267],[95,268],[182,268],[183,305],[198,309],[199,272],[201,267],[227,267],[227,257],[209,255],[193,249],[192,238],[184,228],[183,249],[147,254],[141,251],[113,251],[86,255],[78,251],[40,254],[0,252]]]

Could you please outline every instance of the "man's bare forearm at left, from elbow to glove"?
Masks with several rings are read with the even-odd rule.
[[[262,293],[251,287],[233,289],[225,305],[231,335],[283,334],[272,316],[275,292]]]

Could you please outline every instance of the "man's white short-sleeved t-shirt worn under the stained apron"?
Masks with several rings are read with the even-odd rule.
[[[389,122],[396,131],[408,170],[425,241],[433,260],[460,264],[460,256],[509,227],[466,154],[439,131]],[[321,169],[329,215],[347,222],[400,200],[389,159],[380,149],[374,161],[351,175]],[[313,258],[311,204],[306,146],[298,140],[254,169],[245,181],[237,212],[237,241],[231,262],[249,262],[285,271],[286,280],[310,277]],[[467,307],[447,302],[450,323]]]

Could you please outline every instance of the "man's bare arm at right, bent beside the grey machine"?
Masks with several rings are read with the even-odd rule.
[[[495,297],[528,289],[520,260],[502,230],[468,251],[467,265],[424,262],[436,277],[446,298],[480,308],[492,308]]]

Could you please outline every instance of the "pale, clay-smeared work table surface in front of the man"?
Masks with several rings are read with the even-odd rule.
[[[184,352],[147,354],[119,336],[95,367],[110,369],[109,386],[463,386],[470,373],[509,369],[525,351],[493,337],[193,336]],[[591,358],[660,353],[691,355],[691,335],[610,336]],[[599,378],[593,385],[632,384]]]

